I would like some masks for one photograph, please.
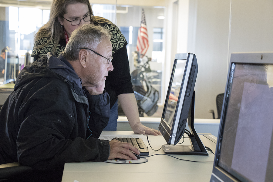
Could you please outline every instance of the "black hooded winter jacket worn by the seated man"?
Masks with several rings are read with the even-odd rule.
[[[97,138],[109,116],[106,91],[90,95],[69,62],[49,52],[20,72],[1,109],[0,164],[48,170],[107,160],[109,141]]]

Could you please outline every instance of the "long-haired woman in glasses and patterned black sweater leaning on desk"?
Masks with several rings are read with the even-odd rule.
[[[159,131],[150,129],[140,123],[131,83],[125,37],[118,27],[109,20],[93,16],[92,8],[88,0],[52,1],[49,21],[42,26],[35,35],[31,55],[34,57],[34,61],[46,55],[48,52],[59,56],[60,52],[64,51],[71,32],[87,23],[100,25],[112,34],[112,64],[114,70],[109,72],[105,85],[105,90],[110,95],[111,113],[109,123],[105,130],[116,130],[118,119],[117,99],[119,99],[121,108],[135,133],[160,135]],[[103,56],[100,52],[96,52],[96,50],[92,51],[96,56]]]

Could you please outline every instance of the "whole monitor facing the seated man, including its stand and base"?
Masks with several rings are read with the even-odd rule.
[[[175,55],[159,130],[166,142],[163,150],[168,154],[208,155],[194,129],[194,85],[197,77],[197,59],[192,53]],[[190,131],[185,132],[186,124]],[[176,144],[187,133],[191,146]]]

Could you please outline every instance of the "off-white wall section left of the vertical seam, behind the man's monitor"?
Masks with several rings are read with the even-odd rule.
[[[193,2],[196,32],[188,43],[188,52],[195,53],[198,62],[195,117],[212,118],[207,110],[213,109],[217,116],[216,96],[224,93],[227,78],[230,1]]]

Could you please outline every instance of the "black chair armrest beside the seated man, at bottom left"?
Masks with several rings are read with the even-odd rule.
[[[0,165],[0,182],[17,181],[21,176],[31,175],[36,170],[19,162]]]

